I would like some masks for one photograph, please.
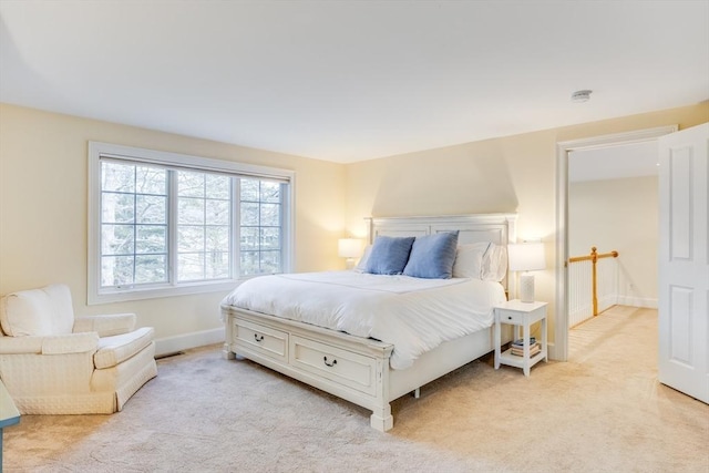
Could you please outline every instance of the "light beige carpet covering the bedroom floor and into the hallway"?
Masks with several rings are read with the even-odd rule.
[[[657,381],[657,312],[572,331],[572,360],[525,378],[470,363],[369,412],[216,346],[161,360],[113,415],[24,415],[7,472],[709,472],[709,407]]]

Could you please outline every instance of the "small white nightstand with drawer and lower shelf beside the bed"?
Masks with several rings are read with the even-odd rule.
[[[508,364],[511,367],[522,368],[524,376],[530,376],[530,368],[538,363],[541,360],[548,361],[546,351],[546,302],[522,302],[518,299],[510,300],[495,306],[495,369],[500,364]],[[530,356],[530,326],[535,322],[542,322],[542,350]],[[524,340],[524,356],[518,357],[512,354],[512,349],[502,352],[502,323],[514,326],[514,340],[522,338]],[[520,328],[522,327],[522,337],[520,337]]]

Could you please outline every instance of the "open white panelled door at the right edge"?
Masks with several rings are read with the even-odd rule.
[[[709,123],[659,138],[659,380],[709,403]]]

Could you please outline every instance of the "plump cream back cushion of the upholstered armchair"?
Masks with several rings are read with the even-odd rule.
[[[74,309],[65,285],[21,290],[0,301],[0,326],[10,337],[71,333]]]

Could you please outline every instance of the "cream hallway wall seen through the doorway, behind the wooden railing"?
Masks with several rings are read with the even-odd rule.
[[[657,307],[658,202],[657,176],[568,186],[569,255],[617,250],[619,304]]]

